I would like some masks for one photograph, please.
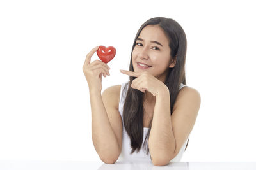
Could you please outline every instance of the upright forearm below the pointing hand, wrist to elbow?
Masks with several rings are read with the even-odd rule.
[[[152,161],[169,162],[174,154],[176,144],[172,131],[170,95],[168,90],[156,97],[148,145]]]

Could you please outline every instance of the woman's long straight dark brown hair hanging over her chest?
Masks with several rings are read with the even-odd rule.
[[[168,74],[166,76],[166,80],[164,84],[168,87],[170,92],[170,110],[171,115],[173,112],[173,104],[175,103],[176,97],[179,92],[180,83],[186,85],[186,77],[185,77],[185,61],[186,61],[186,51],[187,51],[187,39],[186,34],[182,27],[175,21],[170,18],[164,17],[156,17],[147,20],[144,24],[141,25],[138,30],[134,43],[132,45],[132,51],[134,46],[136,45],[136,39],[140,35],[142,29],[147,25],[157,25],[161,27],[169,39],[169,46],[171,49],[171,57],[172,59],[176,58],[175,67],[168,68]],[[131,62],[129,66],[129,71],[134,71],[132,66],[132,55]],[[143,95],[144,93],[138,89],[132,89],[131,83],[136,77],[130,76],[130,81],[126,85],[129,85],[127,90],[127,96],[124,101],[123,106],[123,121],[124,127],[127,131],[131,139],[131,154],[137,150],[137,153],[141,149],[141,145],[143,143]],[[126,89],[127,87],[125,87]],[[147,136],[144,141],[144,148],[147,150],[147,154],[149,152],[148,148],[148,138],[152,126],[152,119],[150,120],[149,130]],[[147,148],[146,148],[147,143]],[[188,145],[188,144],[187,144]]]

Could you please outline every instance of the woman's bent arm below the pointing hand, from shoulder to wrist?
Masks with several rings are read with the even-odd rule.
[[[200,107],[200,94],[193,88],[180,90],[172,117],[170,116],[169,90],[156,96],[156,104],[148,146],[152,162],[163,166],[168,164],[188,138]]]

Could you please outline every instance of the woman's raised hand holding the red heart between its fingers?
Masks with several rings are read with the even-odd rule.
[[[96,46],[86,55],[86,59],[83,66],[83,72],[86,77],[89,89],[96,89],[101,91],[102,74],[104,77],[106,77],[107,75],[110,76],[108,71],[110,67],[100,60],[95,60],[92,63],[90,63],[93,53],[95,53],[98,50],[98,48],[99,46]]]

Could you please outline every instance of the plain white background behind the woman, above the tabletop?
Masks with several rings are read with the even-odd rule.
[[[253,1],[0,1],[0,160],[100,161],[85,57],[115,46],[102,92],[120,85],[141,24],[166,17],[202,100],[182,161],[256,161],[255,15]]]

